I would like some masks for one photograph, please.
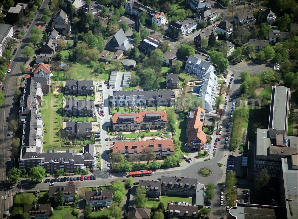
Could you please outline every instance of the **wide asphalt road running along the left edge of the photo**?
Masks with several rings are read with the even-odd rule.
[[[6,212],[10,208],[10,206],[12,206],[13,201],[12,192],[8,190],[10,184],[7,183],[7,172],[13,167],[14,158],[11,157],[11,137],[7,136],[7,130],[9,121],[8,118],[13,114],[16,115],[18,113],[17,108],[14,107],[14,86],[15,82],[19,80],[19,76],[21,75],[21,64],[26,63],[27,61],[27,57],[21,54],[21,49],[26,46],[26,43],[31,35],[30,31],[33,27],[36,27],[36,24],[42,16],[43,9],[46,7],[48,2],[49,0],[44,0],[41,9],[38,10],[38,13],[35,16],[32,24],[29,28],[26,28],[26,34],[23,41],[17,44],[17,52],[15,53],[15,56],[10,63],[11,72],[6,74],[5,81],[3,83],[5,90],[1,90],[4,93],[5,100],[2,107],[0,108],[0,217],[2,217],[4,212]]]

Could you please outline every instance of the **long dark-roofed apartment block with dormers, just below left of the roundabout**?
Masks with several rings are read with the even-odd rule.
[[[179,195],[191,197],[196,195],[197,179],[162,176],[161,195]]]

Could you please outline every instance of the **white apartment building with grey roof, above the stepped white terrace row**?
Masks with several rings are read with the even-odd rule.
[[[185,64],[185,70],[189,74],[195,74],[195,77],[202,79],[207,73],[214,72],[214,66],[193,55],[190,55]]]

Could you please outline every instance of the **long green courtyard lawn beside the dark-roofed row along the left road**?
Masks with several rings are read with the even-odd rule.
[[[44,121],[44,150],[52,146],[60,146],[58,131],[62,128],[62,102],[57,95],[48,94],[43,97],[40,113]]]

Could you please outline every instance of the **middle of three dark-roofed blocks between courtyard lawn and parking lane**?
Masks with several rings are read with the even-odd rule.
[[[95,117],[93,100],[66,100],[64,113],[68,117]]]

